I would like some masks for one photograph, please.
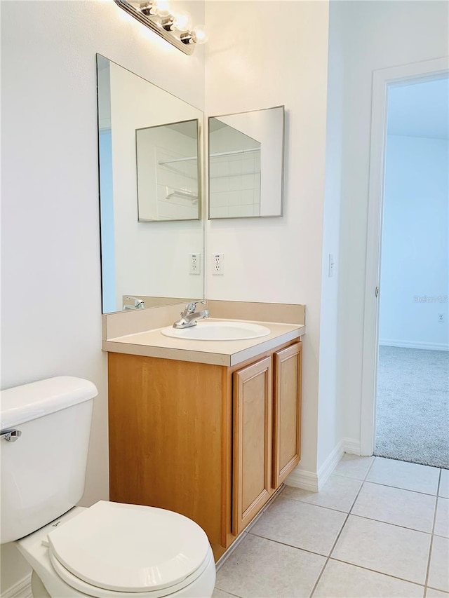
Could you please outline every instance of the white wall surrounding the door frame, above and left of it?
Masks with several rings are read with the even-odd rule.
[[[448,6],[441,1],[331,2],[330,28],[340,28],[344,41],[339,393],[344,436],[354,442],[360,440],[373,70],[446,55]]]

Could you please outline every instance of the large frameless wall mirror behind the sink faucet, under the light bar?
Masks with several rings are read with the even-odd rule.
[[[203,299],[203,112],[97,55],[102,311]]]

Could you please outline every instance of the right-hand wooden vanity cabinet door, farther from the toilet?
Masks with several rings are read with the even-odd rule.
[[[273,488],[278,488],[300,461],[302,343],[274,358]]]

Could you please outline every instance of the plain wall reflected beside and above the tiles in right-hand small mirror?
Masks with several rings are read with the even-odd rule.
[[[260,142],[260,216],[279,215],[282,198],[283,107],[230,114],[219,119]]]

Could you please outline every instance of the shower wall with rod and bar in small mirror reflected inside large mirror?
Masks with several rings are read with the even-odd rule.
[[[137,148],[139,220],[197,218],[198,162],[184,159],[196,156],[196,139],[167,125],[138,130]]]

